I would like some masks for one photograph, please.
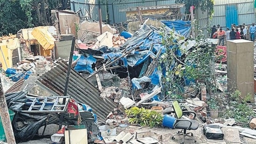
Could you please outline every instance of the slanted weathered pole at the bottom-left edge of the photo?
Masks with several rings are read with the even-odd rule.
[[[5,136],[8,144],[16,144],[15,138],[14,138],[14,131],[4,95],[4,90],[0,78],[0,116],[2,119],[2,124],[5,131]]]

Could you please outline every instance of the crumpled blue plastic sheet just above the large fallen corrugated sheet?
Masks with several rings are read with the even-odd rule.
[[[96,63],[96,61],[97,60],[92,55],[89,55],[88,57],[85,57],[84,55],[82,55],[76,63],[75,70],[77,72],[86,71],[92,74],[94,71],[91,68],[91,65],[93,63]]]

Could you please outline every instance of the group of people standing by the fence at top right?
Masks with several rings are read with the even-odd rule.
[[[212,27],[211,38],[219,39],[218,45],[224,45],[224,41],[227,40],[235,40],[235,39],[244,39],[249,40],[247,34],[250,34],[250,41],[255,41],[256,36],[256,25],[252,23],[252,25],[248,27],[243,23],[242,25],[236,26],[235,24],[231,25],[231,31],[227,28],[227,31],[224,31],[220,25],[217,27],[214,25]]]

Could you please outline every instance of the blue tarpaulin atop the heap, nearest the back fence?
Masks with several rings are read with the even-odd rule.
[[[191,31],[191,21],[161,21],[167,27],[171,29],[175,29],[175,31],[185,36],[186,38],[189,37]]]

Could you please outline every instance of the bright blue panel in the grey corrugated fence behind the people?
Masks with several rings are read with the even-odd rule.
[[[231,27],[233,23],[238,25],[237,5],[228,4],[226,5],[226,26]]]

